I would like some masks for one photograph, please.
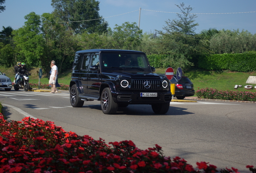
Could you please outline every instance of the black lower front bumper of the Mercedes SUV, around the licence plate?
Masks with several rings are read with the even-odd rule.
[[[157,97],[140,97],[140,92],[118,92],[112,93],[114,102],[126,104],[143,104],[152,105],[159,103],[167,103],[171,101],[171,92],[153,92],[157,93]]]

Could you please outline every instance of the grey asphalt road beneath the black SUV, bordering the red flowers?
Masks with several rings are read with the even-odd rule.
[[[165,115],[150,105],[129,105],[116,115],[105,115],[99,101],[70,106],[69,93],[0,89],[0,102],[9,120],[30,116],[53,121],[65,131],[105,142],[132,140],[140,149],[163,147],[166,156],[179,156],[196,166],[206,161],[218,169],[235,167],[250,172],[256,166],[256,104],[217,101],[171,102]]]

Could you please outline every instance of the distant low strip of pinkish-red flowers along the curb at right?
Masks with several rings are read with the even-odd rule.
[[[248,91],[218,91],[212,88],[198,88],[196,91],[196,96],[202,99],[256,101],[256,93]]]

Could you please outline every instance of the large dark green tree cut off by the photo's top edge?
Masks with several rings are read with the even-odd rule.
[[[99,15],[97,0],[52,0],[53,14],[75,33],[104,33],[108,23]]]

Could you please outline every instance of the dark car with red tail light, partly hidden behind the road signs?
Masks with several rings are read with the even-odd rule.
[[[176,75],[173,75],[173,78],[177,79]],[[194,84],[187,76],[182,76],[178,83],[176,83],[174,96],[177,99],[184,99],[193,95],[195,95]]]

